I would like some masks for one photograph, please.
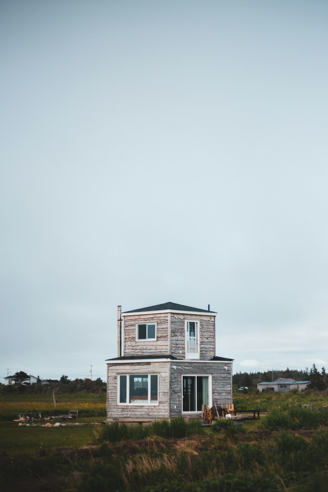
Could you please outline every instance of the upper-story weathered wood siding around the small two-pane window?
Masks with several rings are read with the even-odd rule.
[[[136,340],[137,323],[156,323],[156,340]],[[159,355],[169,353],[168,313],[124,316],[124,355]]]

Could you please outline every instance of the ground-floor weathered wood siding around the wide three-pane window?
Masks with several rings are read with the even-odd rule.
[[[107,418],[142,420],[169,418],[169,368],[168,362],[108,364]],[[118,405],[119,374],[158,374],[158,405]]]

